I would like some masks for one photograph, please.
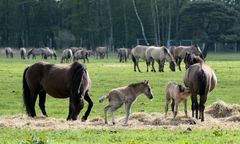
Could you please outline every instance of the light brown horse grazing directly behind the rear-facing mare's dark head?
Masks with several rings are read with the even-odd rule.
[[[204,59],[202,51],[197,45],[177,46],[177,47],[172,49],[172,53],[173,53],[173,57],[175,58],[175,61],[178,65],[178,68],[179,68],[180,71],[181,71],[181,62],[184,59],[187,52],[194,53],[195,55],[198,55],[202,59]]]

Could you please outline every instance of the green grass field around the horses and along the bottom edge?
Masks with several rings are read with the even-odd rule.
[[[0,56],[0,115],[10,116],[24,114],[22,100],[22,73],[23,70],[37,62],[37,60],[20,60],[19,56],[14,59],[7,59]],[[49,60],[50,63],[59,63],[59,59]],[[208,96],[207,105],[222,100],[226,103],[240,104],[240,54],[208,54],[207,64],[216,72],[218,85]],[[165,87],[169,81],[183,83],[185,70],[182,72],[171,72],[168,65],[165,65],[164,73],[145,72],[146,66],[141,62],[140,68],[143,73],[133,72],[131,60],[127,63],[119,63],[116,55],[109,59],[96,60],[90,58],[86,64],[92,79],[91,98],[94,102],[89,119],[96,117],[103,118],[103,107],[106,105],[98,103],[98,99],[106,95],[109,90],[116,87],[126,86],[130,83],[149,80],[154,99],[149,101],[147,97],[140,96],[132,108],[133,112],[158,112],[163,113],[165,102]],[[182,68],[184,66],[182,65]],[[50,117],[66,118],[68,114],[68,99],[55,99],[50,96],[46,100],[46,111]],[[86,108],[86,105],[85,105]],[[188,102],[190,112],[190,101]],[[36,106],[37,115],[41,115],[40,109]],[[182,107],[180,107],[180,111]],[[80,115],[85,111],[80,113]],[[124,116],[124,109],[120,108],[115,112],[115,117]],[[1,128],[0,143],[19,143],[26,141],[30,134],[40,137],[46,134],[51,143],[239,143],[240,131],[226,130],[197,130],[186,133],[181,130],[146,129],[121,130],[121,129],[79,129],[79,130],[58,130],[58,131],[34,131],[17,128]],[[217,133],[217,134],[216,134]],[[218,134],[220,133],[220,134]]]

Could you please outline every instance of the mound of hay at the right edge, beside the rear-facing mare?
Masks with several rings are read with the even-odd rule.
[[[240,105],[228,105],[223,101],[213,103],[207,110],[206,113],[210,114],[214,118],[225,118],[240,113]]]

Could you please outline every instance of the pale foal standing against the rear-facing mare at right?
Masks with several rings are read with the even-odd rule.
[[[187,115],[187,97],[190,95],[189,88],[185,88],[176,82],[170,82],[167,85],[166,89],[166,105],[165,105],[165,117],[167,117],[168,111],[168,104],[172,99],[172,111],[173,111],[173,118],[176,117],[178,111],[178,105],[181,101],[184,102],[184,112],[186,117]]]

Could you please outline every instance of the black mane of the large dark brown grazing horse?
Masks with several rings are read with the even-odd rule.
[[[71,65],[70,73],[72,74],[72,93],[73,94],[77,94],[76,92],[78,92],[78,88],[83,78],[84,70],[85,70],[85,67],[79,62],[74,62]],[[82,91],[83,89],[81,86],[80,93],[82,93]]]

